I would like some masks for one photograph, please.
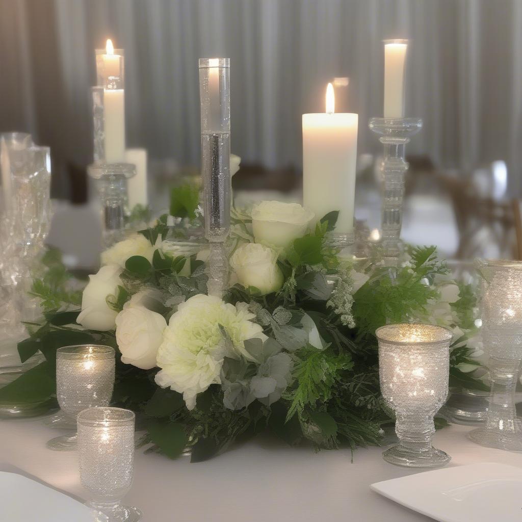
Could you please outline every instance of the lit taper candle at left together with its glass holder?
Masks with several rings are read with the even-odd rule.
[[[89,175],[98,180],[102,200],[104,248],[125,235],[127,180],[136,175],[136,165],[125,158],[125,68],[123,49],[107,40],[96,50],[98,85],[92,87],[94,162]]]

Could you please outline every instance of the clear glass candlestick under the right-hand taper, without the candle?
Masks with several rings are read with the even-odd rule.
[[[385,266],[397,267],[401,255],[400,230],[404,199],[405,145],[422,128],[419,118],[371,118],[370,129],[384,145],[382,173],[382,246]]]

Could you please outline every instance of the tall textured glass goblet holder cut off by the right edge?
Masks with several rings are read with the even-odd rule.
[[[469,438],[483,446],[522,451],[515,388],[522,362],[522,262],[478,261],[482,284],[482,339],[491,383],[486,424]]]

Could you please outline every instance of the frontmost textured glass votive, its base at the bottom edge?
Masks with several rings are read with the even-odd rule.
[[[82,485],[96,520],[134,522],[139,509],[122,506],[134,476],[135,415],[121,408],[89,408],[78,414],[78,448]]]

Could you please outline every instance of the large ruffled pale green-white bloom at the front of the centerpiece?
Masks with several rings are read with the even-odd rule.
[[[233,306],[216,296],[198,294],[180,304],[163,332],[156,382],[182,393],[192,410],[199,393],[221,383],[224,357],[248,357],[244,341],[266,339],[263,328],[252,322],[254,317],[246,303]]]

